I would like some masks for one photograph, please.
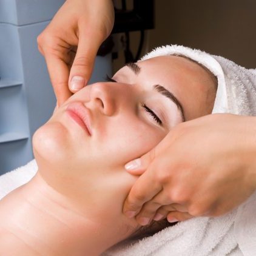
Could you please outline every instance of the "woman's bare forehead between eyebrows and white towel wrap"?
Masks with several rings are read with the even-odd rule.
[[[118,72],[126,76],[127,83],[140,83],[146,87],[161,84],[166,87],[180,100],[186,120],[208,113],[205,112],[205,109],[209,109],[206,98],[213,83],[203,67],[189,59],[172,55],[158,56],[136,64],[140,67],[140,72],[136,74],[127,66]]]

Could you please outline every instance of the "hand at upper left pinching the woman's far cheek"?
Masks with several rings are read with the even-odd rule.
[[[38,36],[59,106],[86,86],[113,22],[112,0],[67,0]]]

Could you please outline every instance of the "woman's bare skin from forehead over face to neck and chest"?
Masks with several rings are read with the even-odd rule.
[[[115,81],[75,93],[33,135],[38,172],[0,200],[0,255],[101,255],[134,232],[144,234],[122,212],[138,178],[124,164],[182,122],[177,105],[155,85],[181,101],[187,118],[211,113],[215,92],[209,74],[187,59],[161,56],[137,65],[136,72],[123,67]],[[193,94],[197,101],[187,96]],[[87,129],[70,107],[83,111]]]

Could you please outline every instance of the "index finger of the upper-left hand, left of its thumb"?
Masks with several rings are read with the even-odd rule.
[[[61,106],[73,94],[68,87],[69,67],[55,55],[45,55],[45,61],[58,105]]]

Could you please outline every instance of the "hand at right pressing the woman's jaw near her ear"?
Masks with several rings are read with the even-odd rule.
[[[124,214],[143,225],[225,214],[254,192],[255,162],[255,117],[214,114],[179,124],[134,166],[126,165],[141,176]]]

